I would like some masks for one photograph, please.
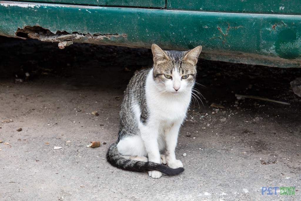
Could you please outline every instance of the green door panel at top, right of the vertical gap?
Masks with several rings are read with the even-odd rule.
[[[241,13],[300,14],[301,1],[296,0],[167,0],[167,9],[222,11]]]

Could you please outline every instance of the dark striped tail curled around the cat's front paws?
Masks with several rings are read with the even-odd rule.
[[[169,168],[167,165],[161,165],[155,162],[150,162],[150,161],[143,162],[143,161],[125,159],[118,152],[117,142],[113,143],[109,147],[109,150],[107,152],[107,161],[111,165],[117,168],[121,168],[123,170],[129,170],[129,171],[144,172],[144,171],[157,170],[169,176],[174,176],[184,171],[184,168],[173,169],[173,168]]]

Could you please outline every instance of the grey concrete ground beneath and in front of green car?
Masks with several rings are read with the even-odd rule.
[[[112,167],[123,91],[151,65],[148,49],[0,37],[0,200],[301,200],[301,98],[290,89],[301,69],[199,60],[205,99],[192,102],[176,149],[185,171],[153,179]]]

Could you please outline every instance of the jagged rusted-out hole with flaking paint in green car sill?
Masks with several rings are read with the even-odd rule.
[[[118,34],[118,33],[78,33],[72,32],[68,33],[67,31],[57,31],[56,33],[52,33],[50,30],[45,29],[40,26],[26,26],[23,29],[18,28],[17,32],[15,33],[16,37],[26,39],[38,39],[44,42],[59,42],[58,46],[60,49],[64,49],[66,46],[70,46],[73,44],[73,41],[79,40],[92,40],[98,41],[106,39],[111,39],[111,37],[126,37],[126,34]]]

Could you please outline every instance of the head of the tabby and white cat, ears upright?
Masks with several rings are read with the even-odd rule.
[[[193,87],[202,46],[184,52],[163,51],[156,44],[151,49],[154,55],[153,79],[160,90],[176,94]]]

